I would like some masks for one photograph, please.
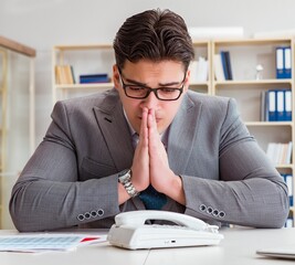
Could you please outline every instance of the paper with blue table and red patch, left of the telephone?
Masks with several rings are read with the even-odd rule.
[[[106,235],[85,234],[13,234],[0,236],[0,252],[36,253],[72,251],[78,246],[105,242]]]

